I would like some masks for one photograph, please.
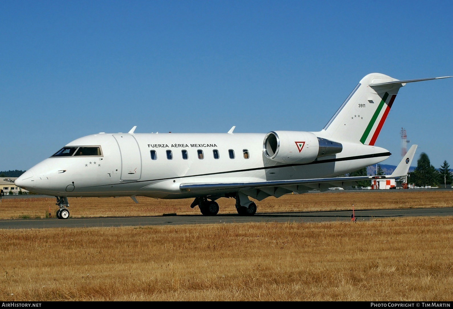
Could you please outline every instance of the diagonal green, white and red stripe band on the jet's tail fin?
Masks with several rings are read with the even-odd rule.
[[[374,145],[376,142],[379,132],[381,132],[382,126],[386,121],[387,115],[389,114],[390,108],[392,107],[393,101],[395,101],[396,94],[389,96],[388,92],[382,97],[379,106],[371,117],[368,126],[366,126],[365,132],[360,139],[360,142],[365,145]],[[388,100],[388,103],[386,101]],[[378,121],[379,120],[379,121]],[[373,132],[371,134],[371,132]]]

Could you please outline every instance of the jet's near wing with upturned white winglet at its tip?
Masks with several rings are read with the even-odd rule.
[[[320,191],[328,190],[333,187],[349,187],[359,180],[371,179],[390,179],[406,176],[409,171],[410,162],[414,158],[417,145],[412,145],[400,164],[391,175],[380,176],[356,176],[356,177],[332,177],[332,178],[313,178],[313,179],[291,179],[291,180],[268,180],[257,182],[237,182],[237,183],[181,183],[179,189],[184,192],[215,192],[217,190],[241,191],[252,198],[258,200],[268,196],[279,197],[286,193],[304,193],[308,190],[316,189]],[[250,193],[250,194],[249,194]],[[260,198],[262,197],[262,198]]]

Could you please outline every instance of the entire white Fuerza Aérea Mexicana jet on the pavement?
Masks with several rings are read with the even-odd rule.
[[[413,145],[393,174],[338,177],[390,156],[375,146],[400,87],[372,73],[361,79],[323,130],[260,133],[128,133],[74,140],[22,174],[15,184],[57,198],[57,217],[69,217],[68,197],[194,198],[203,215],[216,215],[218,198],[235,198],[240,215],[254,215],[269,196],[349,187],[357,180],[407,174]]]

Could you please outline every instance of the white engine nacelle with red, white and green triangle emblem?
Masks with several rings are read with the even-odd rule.
[[[271,131],[263,142],[265,156],[281,163],[309,163],[342,150],[342,144],[304,131]]]

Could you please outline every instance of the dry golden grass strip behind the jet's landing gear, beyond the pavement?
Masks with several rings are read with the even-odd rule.
[[[110,216],[159,216],[163,213],[200,214],[198,207],[190,208],[193,199],[165,200],[137,197],[131,198],[68,198],[71,217]],[[43,218],[49,212],[52,216],[58,209],[55,198],[3,199],[0,203],[0,218]],[[234,199],[220,198],[219,213],[236,213]],[[324,193],[287,194],[281,198],[266,198],[256,201],[259,212],[295,212],[317,210],[346,210],[373,208],[419,208],[453,206],[453,191],[330,191]]]

